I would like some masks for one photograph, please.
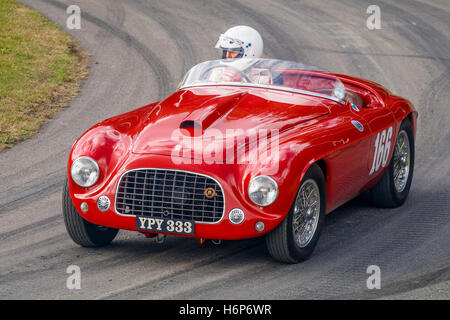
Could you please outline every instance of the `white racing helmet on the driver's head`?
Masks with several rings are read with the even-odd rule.
[[[216,48],[223,51],[222,59],[228,51],[239,52],[236,58],[261,58],[263,40],[258,31],[247,26],[236,26],[221,34]]]

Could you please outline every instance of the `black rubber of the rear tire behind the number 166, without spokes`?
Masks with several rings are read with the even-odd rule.
[[[414,135],[411,127],[411,122],[408,118],[405,118],[405,120],[403,120],[399,129],[399,134],[402,131],[406,132],[410,147],[410,164],[409,164],[408,179],[404,189],[401,192],[397,191],[394,184],[395,159],[394,155],[392,155],[391,161],[389,162],[389,166],[386,169],[386,172],[383,174],[383,177],[374,187],[372,187],[369,190],[372,203],[380,208],[399,207],[406,201],[406,198],[408,197],[409,194],[409,189],[411,187],[414,172],[415,153],[414,153]],[[398,141],[399,134],[397,135],[397,139],[395,141],[396,144]]]

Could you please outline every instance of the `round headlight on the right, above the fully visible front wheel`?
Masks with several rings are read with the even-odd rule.
[[[248,196],[258,206],[268,206],[278,197],[278,185],[268,176],[254,177],[248,185]]]

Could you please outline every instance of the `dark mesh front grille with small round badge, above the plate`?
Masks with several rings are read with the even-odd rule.
[[[208,198],[205,190],[212,191],[211,188],[215,196]],[[116,210],[127,215],[213,223],[222,218],[224,196],[220,185],[203,175],[166,169],[139,169],[125,173],[120,179]]]

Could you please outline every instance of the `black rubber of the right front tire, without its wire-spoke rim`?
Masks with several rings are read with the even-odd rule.
[[[315,232],[309,243],[301,247],[295,240],[295,233],[293,227],[294,208],[297,196],[299,195],[302,186],[309,180],[314,180],[319,188],[320,193],[320,212],[318,214],[318,222]],[[314,251],[314,248],[319,240],[320,233],[323,228],[325,220],[325,205],[326,205],[326,189],[325,178],[320,167],[313,164],[305,176],[303,177],[300,188],[292,203],[286,218],[270,233],[266,235],[266,245],[270,255],[280,262],[298,263],[306,260]]]

